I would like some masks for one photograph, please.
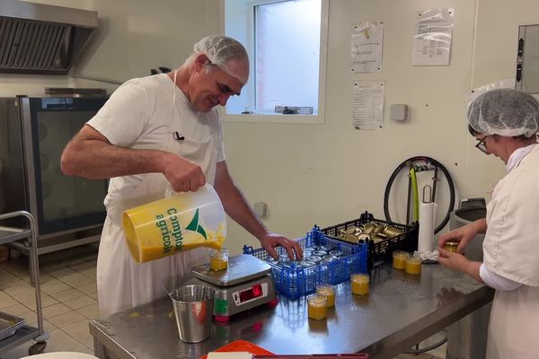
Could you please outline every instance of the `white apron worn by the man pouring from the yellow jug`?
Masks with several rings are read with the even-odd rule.
[[[183,141],[176,141],[171,131],[163,142],[162,150],[198,163],[207,182],[213,184],[216,176],[216,145],[211,133],[208,138],[201,140],[186,136]],[[172,290],[190,276],[190,267],[208,260],[208,250],[204,248],[142,264],[131,258],[121,228],[121,215],[128,208],[163,198],[168,184],[162,173],[140,176],[142,180],[137,187],[107,208],[97,258],[97,293],[102,316],[163,297],[166,295],[163,287]]]

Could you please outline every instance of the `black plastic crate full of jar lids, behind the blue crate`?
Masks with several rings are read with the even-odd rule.
[[[357,227],[358,225],[363,225],[368,222],[392,225],[393,227],[396,227],[402,231],[402,234],[397,237],[384,239],[383,241],[379,241],[377,243],[372,240],[368,241],[367,265],[369,269],[379,266],[385,261],[393,260],[393,251],[395,250],[404,250],[407,252],[418,250],[418,223],[414,222],[411,225],[405,225],[387,222],[376,219],[374,215],[368,213],[367,211],[365,211],[365,213],[363,213],[358,219],[332,225],[331,227],[320,229],[320,231],[337,241],[343,241],[339,238],[339,232],[341,230],[346,231],[349,228]]]

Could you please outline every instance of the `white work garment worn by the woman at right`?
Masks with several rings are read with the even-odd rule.
[[[518,153],[515,153],[517,155]],[[490,311],[487,359],[539,358],[539,146],[510,158],[487,207],[483,263],[523,285],[496,291]],[[510,217],[509,217],[510,216]],[[532,235],[530,235],[532,233]],[[526,284],[524,284],[526,283]]]

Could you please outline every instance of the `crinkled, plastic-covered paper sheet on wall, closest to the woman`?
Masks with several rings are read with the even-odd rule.
[[[417,13],[411,65],[449,65],[454,13],[454,9],[430,9]]]

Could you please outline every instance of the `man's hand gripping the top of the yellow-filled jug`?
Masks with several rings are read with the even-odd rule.
[[[197,163],[173,153],[167,159],[163,174],[176,192],[194,192],[206,184],[204,172]]]

